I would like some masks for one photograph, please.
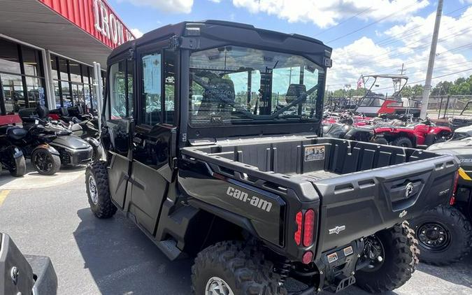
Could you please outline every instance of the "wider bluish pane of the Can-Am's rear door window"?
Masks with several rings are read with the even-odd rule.
[[[143,69],[143,123],[161,122],[161,55],[152,53],[141,58]]]

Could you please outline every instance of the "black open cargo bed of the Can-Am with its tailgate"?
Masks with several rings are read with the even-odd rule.
[[[199,185],[185,169],[180,172],[190,196],[240,215],[278,247],[290,247],[287,237],[296,229],[293,222],[274,225],[294,220],[306,206],[317,210],[317,255],[447,203],[458,167],[452,156],[337,138],[220,141],[182,152],[208,171],[208,180],[194,180]],[[277,210],[252,212],[251,206],[227,200],[228,183],[261,193],[258,197],[273,200]],[[330,234],[336,226],[344,226],[342,233]]]

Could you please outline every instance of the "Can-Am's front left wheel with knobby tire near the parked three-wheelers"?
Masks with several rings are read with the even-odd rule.
[[[90,209],[96,217],[110,218],[116,213],[116,206],[110,197],[108,172],[100,161],[94,161],[85,169],[85,187]]]

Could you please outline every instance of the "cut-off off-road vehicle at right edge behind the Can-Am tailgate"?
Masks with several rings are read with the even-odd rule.
[[[437,143],[428,150],[453,154],[461,166],[449,204],[411,220],[420,245],[420,259],[448,265],[462,260],[472,247],[472,138]]]

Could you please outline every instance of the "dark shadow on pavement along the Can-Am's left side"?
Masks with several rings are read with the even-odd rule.
[[[122,213],[109,220],[78,210],[73,236],[101,294],[190,294],[192,259],[169,261]]]

